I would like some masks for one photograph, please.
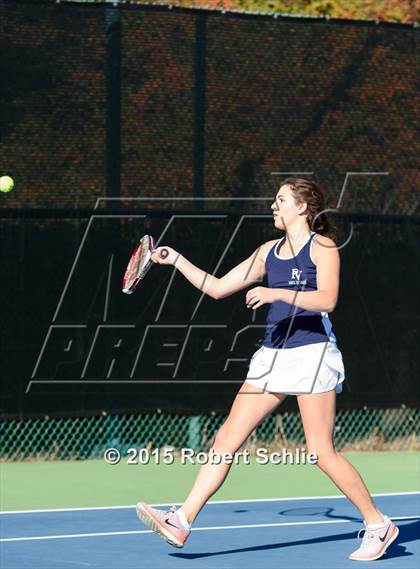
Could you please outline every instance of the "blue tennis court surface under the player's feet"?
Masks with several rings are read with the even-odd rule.
[[[376,494],[400,534],[378,564],[420,564],[420,493]],[[162,509],[168,504],[156,504]],[[352,567],[357,510],[343,496],[209,502],[183,549],[145,529],[134,507],[4,512],[2,569]],[[359,562],[360,563],[360,562]]]

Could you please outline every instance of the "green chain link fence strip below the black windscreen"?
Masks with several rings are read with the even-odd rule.
[[[82,418],[7,419],[0,427],[1,458],[75,460],[101,458],[107,448],[172,447],[208,451],[226,415],[100,415]],[[334,443],[340,451],[419,450],[420,410],[338,410]],[[243,449],[294,450],[305,445],[299,413],[268,416]]]

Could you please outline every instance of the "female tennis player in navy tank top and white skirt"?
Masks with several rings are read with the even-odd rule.
[[[323,213],[324,194],[311,180],[287,178],[271,209],[274,227],[285,235],[263,243],[221,278],[170,247],[166,247],[166,259],[159,257],[160,247],[152,256],[156,263],[175,265],[191,284],[214,299],[261,282],[265,275],[268,278],[268,287],[256,286],[245,294],[246,306],[252,310],[270,304],[265,336],[210,453],[234,455],[287,395],[296,395],[307,452],[316,453],[318,467],[364,521],[363,540],[349,558],[378,559],[396,539],[398,528],[378,510],[357,470],[333,444],[335,398],[342,391],[344,366],[328,318],[337,303],[340,258]],[[139,518],[168,543],[182,547],[197,514],[223,484],[230,466],[226,460],[219,464],[208,460],[180,508],[172,506],[163,512],[139,502]]]

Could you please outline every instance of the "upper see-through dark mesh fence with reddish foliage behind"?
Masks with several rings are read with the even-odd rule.
[[[387,172],[352,179],[341,210],[419,213],[411,26],[110,3],[0,10],[0,153],[16,183],[0,208],[272,195],[292,171],[322,181],[334,207],[347,172]]]

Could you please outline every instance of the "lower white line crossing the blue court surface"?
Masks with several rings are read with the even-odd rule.
[[[389,516],[392,520],[417,520],[420,516]],[[277,522],[272,524],[244,524],[239,526],[208,526],[203,528],[192,528],[192,531],[211,531],[221,529],[249,529],[249,528],[268,528],[280,526],[308,526],[321,524],[348,524],[354,523],[353,520],[319,520],[313,522]],[[103,537],[110,535],[138,535],[142,533],[153,533],[152,530],[134,530],[134,531],[109,531],[100,533],[71,533],[63,535],[38,535],[32,537],[6,537],[0,539],[0,543],[7,541],[39,541],[45,539],[71,539],[79,537]]]

